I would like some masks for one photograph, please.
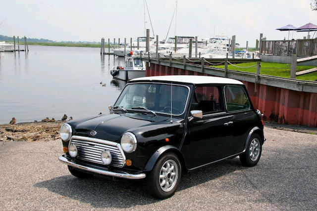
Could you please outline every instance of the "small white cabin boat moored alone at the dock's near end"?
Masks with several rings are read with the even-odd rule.
[[[133,55],[125,56],[124,67],[112,67],[110,74],[114,79],[128,81],[135,78],[145,77],[145,61],[143,53],[133,52]]]

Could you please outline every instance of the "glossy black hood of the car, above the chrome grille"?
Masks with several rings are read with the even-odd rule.
[[[121,135],[128,130],[138,127],[169,124],[166,116],[145,115],[140,113],[119,113],[98,116],[81,123],[72,125],[74,135],[89,136],[119,142]],[[90,131],[95,130],[96,135],[92,136]]]

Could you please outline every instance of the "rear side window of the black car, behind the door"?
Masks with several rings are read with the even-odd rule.
[[[240,85],[226,85],[224,87],[226,106],[228,111],[250,109],[250,102],[244,88]]]

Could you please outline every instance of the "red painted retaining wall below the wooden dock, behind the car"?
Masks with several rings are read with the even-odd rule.
[[[193,71],[158,64],[148,66],[146,76],[205,75]],[[253,106],[264,114],[264,120],[280,124],[317,127],[317,93],[293,91],[285,88],[242,82],[246,85]]]

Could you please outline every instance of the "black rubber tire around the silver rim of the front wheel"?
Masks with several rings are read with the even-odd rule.
[[[173,173],[175,173],[174,176],[171,173],[166,172],[167,173],[166,177],[160,179],[161,169],[162,169],[162,167],[166,166],[167,163],[176,164],[177,177],[174,177],[174,176],[176,176],[176,172],[173,172]],[[172,167],[170,167],[170,168],[172,169]],[[176,168],[173,167],[173,170],[176,171]],[[154,196],[155,198],[158,198],[158,199],[166,199],[166,198],[171,197],[175,193],[175,191],[179,185],[181,175],[182,175],[182,168],[181,168],[181,164],[179,162],[178,157],[174,153],[168,153],[168,154],[163,155],[161,158],[159,158],[158,162],[155,164],[154,168],[147,176],[148,192],[152,196]],[[164,191],[163,190],[164,187],[160,186],[160,180],[169,180],[169,179],[173,180],[173,178],[175,180],[174,180],[174,182],[172,182],[172,185],[170,186],[171,189],[167,190],[168,188],[166,187],[166,190]],[[165,183],[167,184],[167,182],[165,182]]]

